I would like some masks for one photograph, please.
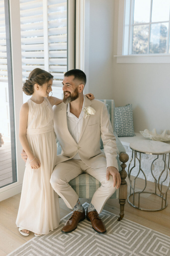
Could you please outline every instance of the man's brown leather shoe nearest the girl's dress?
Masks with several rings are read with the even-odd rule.
[[[83,221],[86,218],[85,210],[83,212],[74,211],[72,216],[66,221],[64,227],[62,228],[62,232],[70,233],[76,229],[78,223]]]

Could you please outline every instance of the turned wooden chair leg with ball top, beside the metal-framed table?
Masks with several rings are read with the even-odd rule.
[[[122,162],[121,167],[122,170],[119,172],[121,176],[121,185],[119,188],[119,204],[120,204],[120,217],[117,219],[118,221],[122,220],[124,217],[124,205],[126,203],[126,198],[127,198],[127,182],[126,182],[126,177],[127,177],[127,172],[125,171],[126,168],[126,162],[129,160],[128,154],[122,152],[119,155],[119,159]]]

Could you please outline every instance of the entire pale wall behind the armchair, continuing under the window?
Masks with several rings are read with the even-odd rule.
[[[170,64],[116,63],[118,10],[119,0],[90,0],[89,92],[132,104],[135,132],[170,134]]]

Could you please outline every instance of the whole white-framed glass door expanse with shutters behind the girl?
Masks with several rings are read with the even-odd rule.
[[[22,83],[34,68],[45,69],[62,98],[62,77],[74,68],[74,10],[75,0],[0,0],[0,201],[22,189]]]

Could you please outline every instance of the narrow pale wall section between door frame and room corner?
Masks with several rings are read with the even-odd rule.
[[[96,99],[112,99],[114,1],[89,3],[89,28],[85,28],[89,29],[89,63],[85,64],[85,73],[89,72],[88,90]]]

